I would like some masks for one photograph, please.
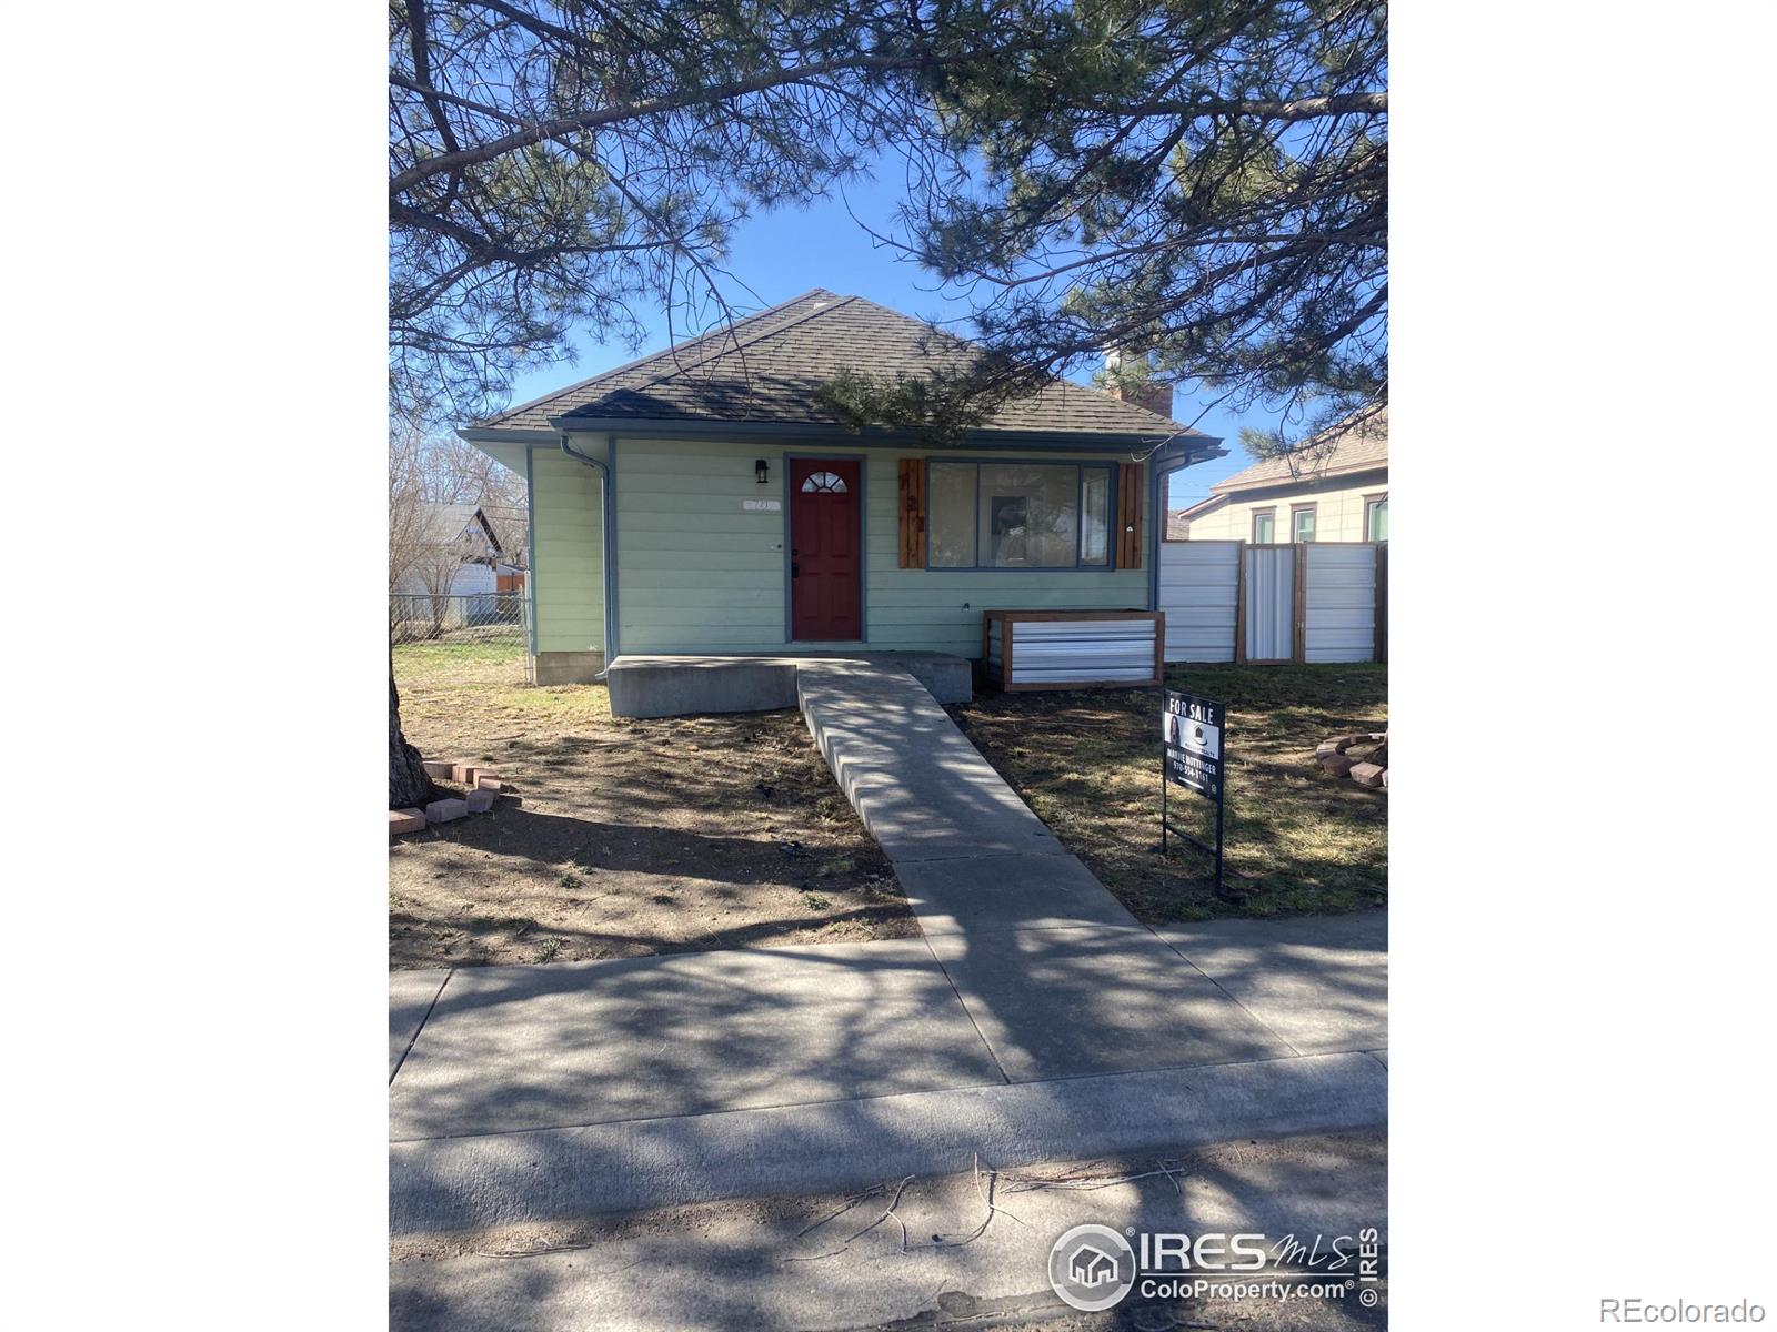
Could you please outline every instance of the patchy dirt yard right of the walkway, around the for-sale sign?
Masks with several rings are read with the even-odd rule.
[[[983,694],[949,709],[988,762],[1139,920],[1354,911],[1388,900],[1388,796],[1329,776],[1315,746],[1386,730],[1386,666],[1187,666],[1173,689],[1228,703],[1226,893],[1210,858],[1160,842],[1157,689]],[[1175,789],[1175,826],[1214,840]]]

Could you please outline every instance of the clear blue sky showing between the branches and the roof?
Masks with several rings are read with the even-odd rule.
[[[734,236],[727,266],[736,279],[757,293],[757,300],[734,288],[725,295],[736,302],[737,309],[750,313],[819,286],[848,297],[864,297],[919,318],[965,316],[968,311],[965,302],[945,300],[936,291],[931,274],[890,249],[878,249],[851,217],[855,213],[874,231],[888,233],[897,199],[899,188],[892,188],[890,181],[853,181],[846,186],[844,201],[835,192],[832,199],[816,201],[803,210],[778,210],[748,218]],[[849,213],[846,202],[849,202]],[[967,334],[967,327],[958,330]],[[641,352],[654,352],[665,345],[666,321],[657,318],[649,329],[649,339]],[[601,346],[583,336],[574,339],[574,346],[579,352],[576,364],[542,366],[522,373],[514,385],[512,401],[538,398],[636,355],[622,343]],[[1089,373],[1091,368],[1086,368],[1075,378],[1084,384]],[[1183,391],[1173,401],[1173,416],[1180,421],[1189,423],[1199,410],[1201,403]],[[1251,458],[1240,448],[1240,426],[1267,426],[1274,421],[1274,416],[1262,412],[1235,416],[1212,408],[1196,423],[1198,430],[1221,435],[1230,456],[1187,469],[1173,487],[1171,504],[1182,508],[1203,499],[1214,481],[1246,467]]]

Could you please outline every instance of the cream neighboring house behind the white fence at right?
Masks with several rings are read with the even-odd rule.
[[[1331,453],[1265,458],[1167,513],[1169,542],[1386,542],[1388,414],[1331,440]]]

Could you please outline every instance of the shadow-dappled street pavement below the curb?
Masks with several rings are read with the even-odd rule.
[[[1056,1316],[1077,1327],[1045,1282],[1048,1247],[1072,1225],[1294,1234],[1306,1243],[1381,1229],[1388,1213],[1377,1130],[899,1181],[887,1172],[867,1193],[741,1199],[402,1243],[389,1272],[391,1327],[839,1332],[1029,1327]],[[1386,1327],[1386,1314],[1367,1316],[1356,1298],[1143,1307],[1132,1296],[1118,1314],[1105,1325]]]

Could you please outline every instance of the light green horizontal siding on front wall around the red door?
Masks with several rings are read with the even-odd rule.
[[[592,440],[578,440],[588,448]],[[588,448],[590,451],[590,448]],[[617,448],[617,606],[622,652],[782,652],[785,650],[784,543],[787,501],[785,453],[864,458],[865,643],[873,650],[981,654],[981,613],[1015,609],[1144,607],[1148,570],[1080,572],[947,572],[897,568],[897,460],[956,456],[919,449],[878,449],[835,444],[769,446],[634,439]],[[988,456],[986,451],[958,451]],[[538,465],[542,453],[537,455]],[[1073,462],[1064,453],[1002,453],[993,458]],[[1093,460],[1095,455],[1079,455]],[[753,460],[769,465],[759,485]],[[1098,455],[1096,460],[1104,460]],[[1128,465],[1127,458],[1118,458]],[[578,464],[570,464],[576,465]],[[597,520],[597,476],[585,472],[588,522]],[[556,472],[538,474],[546,492]],[[572,478],[569,478],[572,480]],[[777,501],[778,510],[746,510],[748,501]],[[1146,501],[1144,501],[1146,503]],[[537,499],[537,543],[546,526],[567,522],[572,506],[547,508]],[[1143,510],[1146,536],[1148,513]],[[595,529],[590,531],[595,536]],[[540,639],[549,650],[558,625],[554,602],[542,597]],[[595,602],[588,602],[595,606]],[[572,630],[579,634],[576,625]],[[592,630],[595,632],[595,629]],[[547,638],[547,641],[544,641]],[[563,643],[565,646],[565,643]],[[855,643],[796,643],[796,648],[844,648]]]

